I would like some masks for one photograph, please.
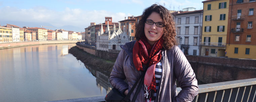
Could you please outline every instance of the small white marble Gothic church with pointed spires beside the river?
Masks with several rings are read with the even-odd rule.
[[[123,31],[121,30],[120,22],[117,30],[115,25],[113,30],[110,30],[109,25],[107,25],[105,33],[101,24],[101,30],[97,32],[97,50],[105,50],[107,52],[113,49],[121,50],[120,45],[130,42],[130,36],[125,32],[126,29],[123,29]]]

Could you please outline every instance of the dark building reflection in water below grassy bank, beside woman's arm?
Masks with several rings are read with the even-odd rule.
[[[109,93],[109,91],[113,88],[109,83],[109,73],[97,71],[95,68],[89,66],[86,66],[86,68],[92,73],[93,76],[96,77],[96,85],[100,88],[101,94],[103,88],[106,90],[105,94]]]

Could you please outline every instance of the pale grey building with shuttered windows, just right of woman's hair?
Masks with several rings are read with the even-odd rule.
[[[203,10],[187,10],[172,14],[175,18],[177,43],[182,52],[185,55],[200,55]]]

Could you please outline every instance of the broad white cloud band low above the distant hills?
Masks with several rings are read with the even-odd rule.
[[[90,22],[103,23],[106,16],[110,16],[113,22],[124,20],[131,16],[122,12],[114,13],[105,10],[82,10],[65,8],[63,11],[54,11],[45,7],[34,7],[31,9],[18,9],[15,7],[0,8],[0,19],[2,21],[23,22],[47,22],[54,26],[64,25],[88,27]]]

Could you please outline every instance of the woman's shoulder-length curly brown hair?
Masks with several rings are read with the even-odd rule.
[[[170,11],[161,5],[153,4],[143,11],[143,14],[141,15],[139,23],[135,25],[136,40],[139,41],[140,38],[145,37],[145,32],[144,32],[145,21],[152,12],[159,13],[163,19],[163,23],[164,23],[163,35],[162,35],[163,36],[162,38],[164,40],[163,48],[171,49],[172,46],[177,45],[177,42],[175,39],[175,36],[176,36],[175,22],[173,21],[173,16],[171,15]]]

